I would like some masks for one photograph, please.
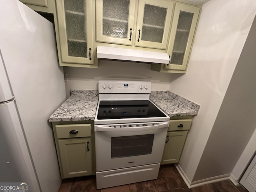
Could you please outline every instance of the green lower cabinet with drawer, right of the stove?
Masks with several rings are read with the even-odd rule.
[[[161,164],[178,163],[192,119],[170,120]]]

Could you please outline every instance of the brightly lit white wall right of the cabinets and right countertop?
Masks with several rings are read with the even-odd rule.
[[[201,105],[180,166],[193,180],[256,12],[255,0],[210,0],[202,7],[188,72],[169,90]]]

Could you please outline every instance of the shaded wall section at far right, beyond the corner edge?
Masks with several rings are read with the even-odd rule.
[[[193,180],[230,174],[256,128],[256,19],[244,44]]]

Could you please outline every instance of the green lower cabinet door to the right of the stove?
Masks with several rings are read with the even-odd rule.
[[[161,164],[178,163],[188,131],[167,132]]]

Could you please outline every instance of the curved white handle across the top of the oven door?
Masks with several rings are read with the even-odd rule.
[[[125,127],[125,124],[123,124],[122,128],[119,127],[108,127],[107,125],[103,126],[97,126],[97,131],[102,132],[134,132],[134,131],[146,131],[146,130],[154,130],[154,129],[162,129],[169,126],[170,122],[154,122],[150,123],[151,126],[145,126],[148,123],[142,124],[143,126],[136,126],[134,124],[134,127],[131,127],[131,124],[128,124],[127,127]],[[113,125],[112,125],[113,126]]]

